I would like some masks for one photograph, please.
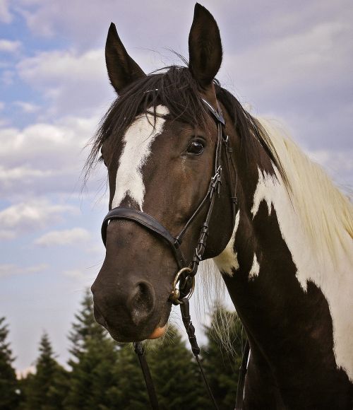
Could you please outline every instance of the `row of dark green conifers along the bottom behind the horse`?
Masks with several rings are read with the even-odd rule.
[[[220,320],[226,318],[226,320]],[[204,326],[203,368],[220,409],[234,409],[245,335],[235,312],[219,303]],[[223,329],[222,329],[223,327]],[[56,361],[47,333],[42,335],[35,373],[18,379],[13,368],[8,324],[0,318],[1,410],[142,410],[150,409],[138,358],[131,344],[117,344],[95,322],[86,292],[75,315],[67,368]],[[227,334],[228,348],[217,334]],[[178,329],[169,325],[158,348],[146,356],[161,410],[212,409],[196,361]]]

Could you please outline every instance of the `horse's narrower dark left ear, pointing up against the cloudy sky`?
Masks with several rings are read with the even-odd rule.
[[[128,84],[145,76],[140,66],[126,52],[114,23],[109,27],[105,44],[105,62],[109,80],[118,94]]]

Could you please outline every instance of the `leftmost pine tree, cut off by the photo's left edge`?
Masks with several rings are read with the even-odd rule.
[[[19,403],[19,385],[12,367],[13,357],[10,344],[6,341],[8,326],[5,317],[0,317],[0,409],[13,410]]]

